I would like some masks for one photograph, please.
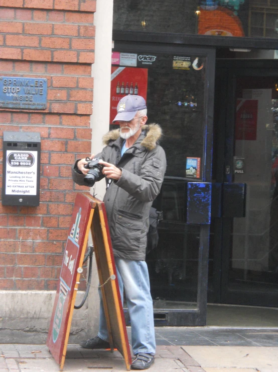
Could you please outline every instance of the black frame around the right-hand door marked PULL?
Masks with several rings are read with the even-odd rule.
[[[218,60],[216,61],[216,87],[222,104],[217,117],[217,182],[232,183],[234,156],[235,95],[237,77],[277,77],[277,60]],[[217,84],[218,82],[218,84]],[[221,82],[221,84],[219,84]],[[217,90],[217,89],[216,89]],[[226,166],[231,172],[225,173]],[[256,299],[242,291],[228,290],[228,267],[230,252],[230,235],[233,218],[219,218],[215,221],[215,235],[221,236],[214,246],[214,301],[215,303],[272,306],[277,304],[277,297],[271,293],[256,293]],[[259,297],[259,304],[258,304]]]

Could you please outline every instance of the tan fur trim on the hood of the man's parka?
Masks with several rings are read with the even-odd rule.
[[[145,147],[146,150],[151,151],[156,148],[157,142],[162,136],[162,129],[159,124],[146,124],[142,127],[142,132],[146,132],[146,137],[140,143],[141,146]],[[115,141],[120,136],[120,130],[110,130],[102,137],[102,143],[108,145],[111,141]]]

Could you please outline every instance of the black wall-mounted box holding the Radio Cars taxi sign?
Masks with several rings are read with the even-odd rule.
[[[3,205],[40,203],[40,133],[4,132]]]

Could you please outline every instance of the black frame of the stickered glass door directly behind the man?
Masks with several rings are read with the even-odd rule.
[[[204,104],[204,117],[207,118],[207,125],[204,125],[204,149],[203,157],[203,179],[199,182],[211,183],[212,169],[212,139],[213,139],[213,103],[214,103],[214,71],[215,71],[215,48],[190,47],[178,44],[151,43],[116,40],[114,35],[114,50],[120,52],[144,52],[144,53],[170,53],[182,55],[207,55],[207,81],[206,102]],[[190,179],[184,179],[189,182]],[[155,310],[155,324],[164,326],[203,326],[206,324],[207,310],[207,272],[208,272],[208,251],[209,251],[209,230],[210,225],[200,225],[200,247],[198,265],[198,287],[196,310],[166,309],[165,311]],[[162,313],[167,316],[164,318]],[[156,314],[158,315],[156,317]],[[160,318],[160,319],[156,319]],[[128,320],[128,317],[127,317]]]

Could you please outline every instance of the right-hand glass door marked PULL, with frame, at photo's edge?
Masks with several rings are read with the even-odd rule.
[[[278,71],[271,68],[228,70],[226,124],[220,129],[223,157],[216,167],[216,177],[223,180],[223,209],[214,224],[222,242],[214,250],[221,260],[213,262],[221,274],[213,302],[277,307],[277,81]],[[237,194],[230,193],[227,203],[231,187]]]

